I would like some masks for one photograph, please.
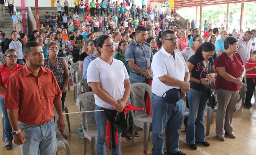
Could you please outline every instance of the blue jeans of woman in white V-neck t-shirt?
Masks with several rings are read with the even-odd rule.
[[[95,104],[95,110],[103,110],[102,107],[99,107]],[[104,111],[102,112],[95,112],[95,120],[98,128],[98,138],[97,138],[97,154],[98,155],[106,155],[106,126],[107,126],[107,115]],[[120,154],[120,146],[121,146],[121,133],[118,134],[118,143],[116,145],[115,150],[111,150],[112,155],[119,155]]]

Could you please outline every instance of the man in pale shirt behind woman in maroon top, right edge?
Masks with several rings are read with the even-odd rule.
[[[252,34],[253,33],[251,31],[246,31],[244,36],[238,39],[238,54],[242,57],[244,64],[246,64],[246,61],[251,57],[253,49],[253,45],[251,43]]]

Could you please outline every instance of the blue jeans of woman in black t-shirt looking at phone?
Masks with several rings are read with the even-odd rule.
[[[204,112],[208,102],[208,92],[190,88],[188,91],[189,115],[186,128],[187,144],[205,141]]]

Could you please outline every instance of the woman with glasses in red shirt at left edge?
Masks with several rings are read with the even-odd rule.
[[[5,51],[5,61],[3,66],[0,66],[0,106],[4,118],[4,132],[5,132],[5,150],[10,150],[12,147],[13,135],[11,134],[12,128],[8,119],[7,109],[3,107],[5,102],[5,90],[7,86],[8,78],[16,71],[21,69],[23,66],[17,64],[17,53],[14,49],[10,48]]]

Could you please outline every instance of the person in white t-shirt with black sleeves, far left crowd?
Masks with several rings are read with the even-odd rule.
[[[17,64],[22,65],[23,63],[23,52],[22,52],[22,48],[23,48],[23,41],[18,38],[18,33],[17,31],[13,30],[10,33],[11,37],[6,43],[5,43],[5,50],[8,50],[10,48],[13,48],[16,50],[17,56],[18,56],[18,60]]]

